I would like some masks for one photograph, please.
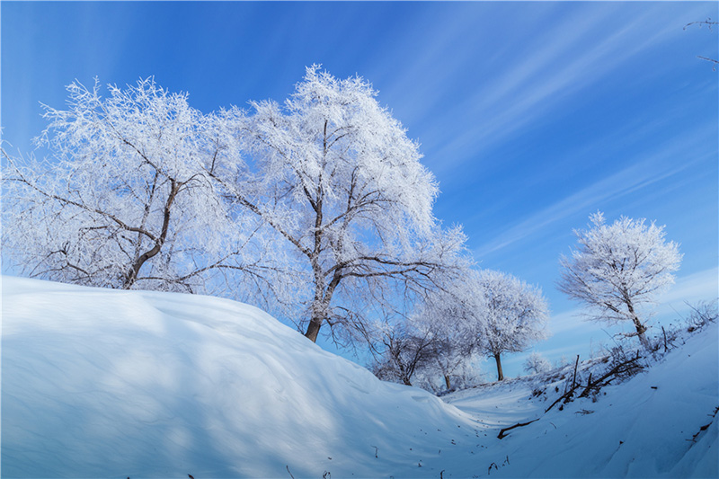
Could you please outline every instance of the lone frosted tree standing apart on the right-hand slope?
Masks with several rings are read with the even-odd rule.
[[[577,249],[560,259],[558,288],[590,306],[590,319],[632,322],[632,335],[649,349],[640,308],[674,282],[672,273],[681,262],[679,245],[665,241],[664,226],[646,226],[644,219],[620,217],[607,225],[597,212],[590,221],[589,229],[574,231]]]

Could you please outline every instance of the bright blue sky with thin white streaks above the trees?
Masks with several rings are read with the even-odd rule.
[[[304,68],[364,76],[422,144],[435,214],[464,225],[481,267],[542,287],[551,359],[608,340],[555,290],[573,228],[602,210],[666,225],[681,244],[658,309],[717,295],[716,2],[6,2],[4,139],[23,152],[75,78],[154,75],[213,111],[283,100]],[[519,359],[508,373],[519,372]],[[491,369],[490,369],[491,371]]]

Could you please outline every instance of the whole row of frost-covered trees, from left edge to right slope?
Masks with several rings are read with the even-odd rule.
[[[367,345],[378,377],[469,380],[546,337],[541,290],[475,268],[418,144],[359,76],[306,68],[283,103],[202,113],[153,78],[67,86],[43,105],[49,157],[2,149],[3,255],[22,274],[87,286],[232,297],[315,342]],[[577,232],[559,288],[629,320],[671,281],[676,244],[622,218]],[[618,243],[617,243],[618,242]],[[647,267],[647,264],[654,265]]]

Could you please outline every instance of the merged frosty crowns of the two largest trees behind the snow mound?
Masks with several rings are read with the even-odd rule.
[[[45,107],[48,161],[2,150],[4,256],[25,274],[255,297],[312,341],[323,324],[354,340],[369,305],[466,262],[417,144],[362,78],[309,67],[283,105],[210,114],[152,79],[67,89],[67,110]]]

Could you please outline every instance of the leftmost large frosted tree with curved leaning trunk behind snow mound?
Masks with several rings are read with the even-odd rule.
[[[103,98],[97,81],[74,82],[67,110],[44,106],[45,161],[3,150],[4,259],[32,277],[110,288],[207,291],[213,271],[252,271],[243,245],[259,224],[237,228],[207,173],[239,161],[223,114],[151,78],[108,88]]]

